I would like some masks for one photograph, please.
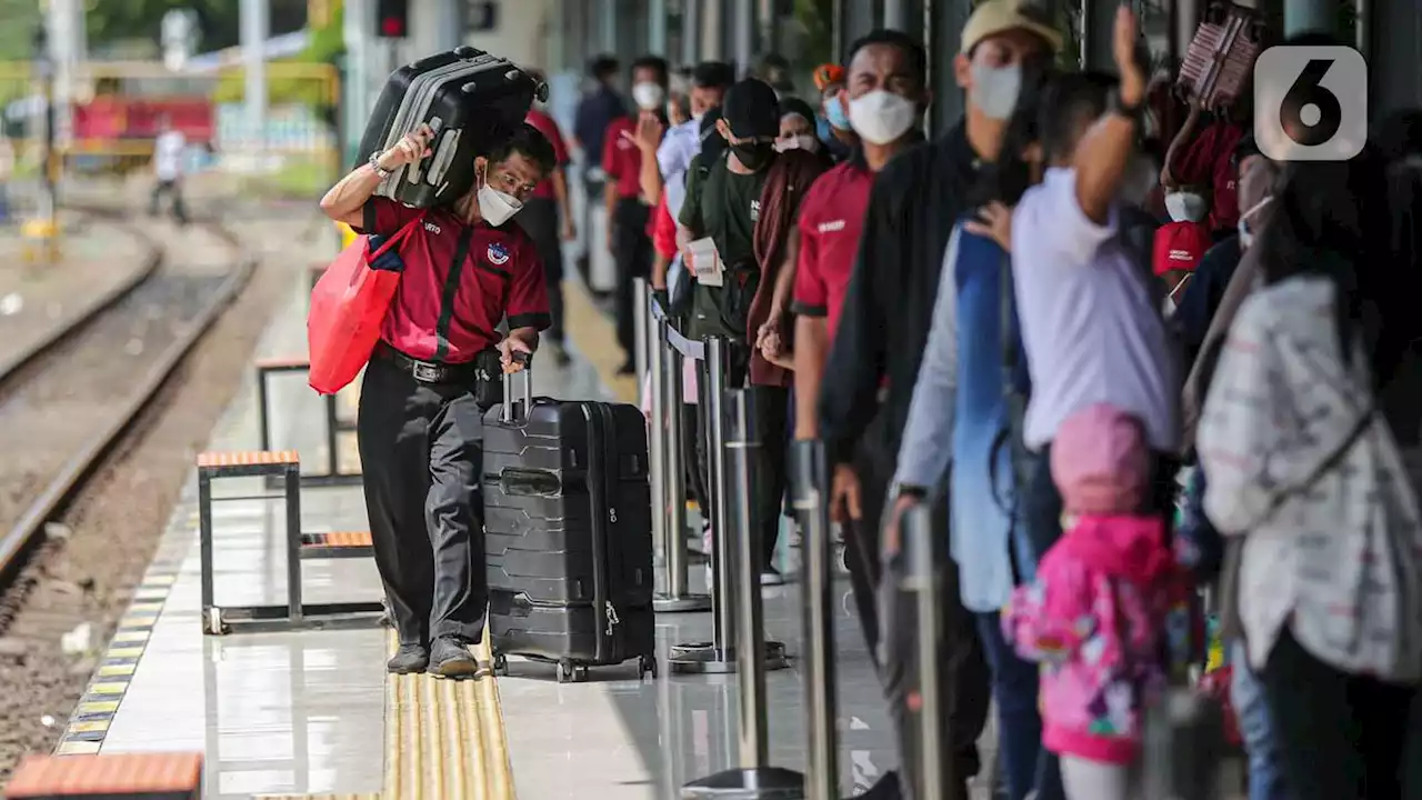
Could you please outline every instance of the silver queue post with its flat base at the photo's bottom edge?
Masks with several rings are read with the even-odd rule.
[[[765,719],[765,621],[761,605],[761,542],[751,510],[751,463],[765,444],[759,440],[755,414],[751,413],[751,389],[725,393],[729,406],[729,436],[725,437],[725,497],[731,510],[722,525],[734,547],[720,547],[718,554],[734,549],[735,561],[729,588],[735,591],[737,668],[741,675],[738,713],[739,766],[694,780],[681,787],[683,800],[737,797],[745,800],[803,800],[805,776],[768,764],[769,742]],[[778,443],[776,443],[778,446]]]

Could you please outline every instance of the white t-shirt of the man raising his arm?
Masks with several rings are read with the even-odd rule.
[[[1052,168],[1012,212],[1012,283],[1032,376],[1025,440],[1039,448],[1057,426],[1095,403],[1142,421],[1150,447],[1180,443],[1175,350],[1142,265],[1076,204],[1076,172]]]

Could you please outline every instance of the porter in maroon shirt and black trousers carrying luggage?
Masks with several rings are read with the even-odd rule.
[[[421,211],[371,196],[384,175],[431,155],[428,127],[375,154],[321,198],[327,216],[390,236]],[[538,249],[510,225],[555,165],[530,125],[475,159],[475,191],[424,212],[400,245],[400,289],[361,383],[357,440],[375,567],[400,649],[391,672],[472,675],[483,636],[483,411],[549,326]],[[509,333],[496,333],[501,322]],[[502,363],[502,370],[499,364]]]

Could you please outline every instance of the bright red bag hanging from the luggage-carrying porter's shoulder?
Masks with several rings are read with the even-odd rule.
[[[375,252],[370,252],[370,236],[360,236],[336,256],[311,289],[311,310],[306,315],[311,360],[307,380],[317,393],[336,394],[370,362],[400,285],[398,272],[370,265],[398,246],[421,219],[424,214],[407,222]]]

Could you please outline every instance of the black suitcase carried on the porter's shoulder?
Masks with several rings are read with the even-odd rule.
[[[474,47],[395,70],[365,124],[358,155],[364,162],[421,122],[435,131],[434,155],[395,169],[375,194],[415,208],[459,199],[474,186],[474,158],[508,138],[535,98],[547,98],[546,84]]]

